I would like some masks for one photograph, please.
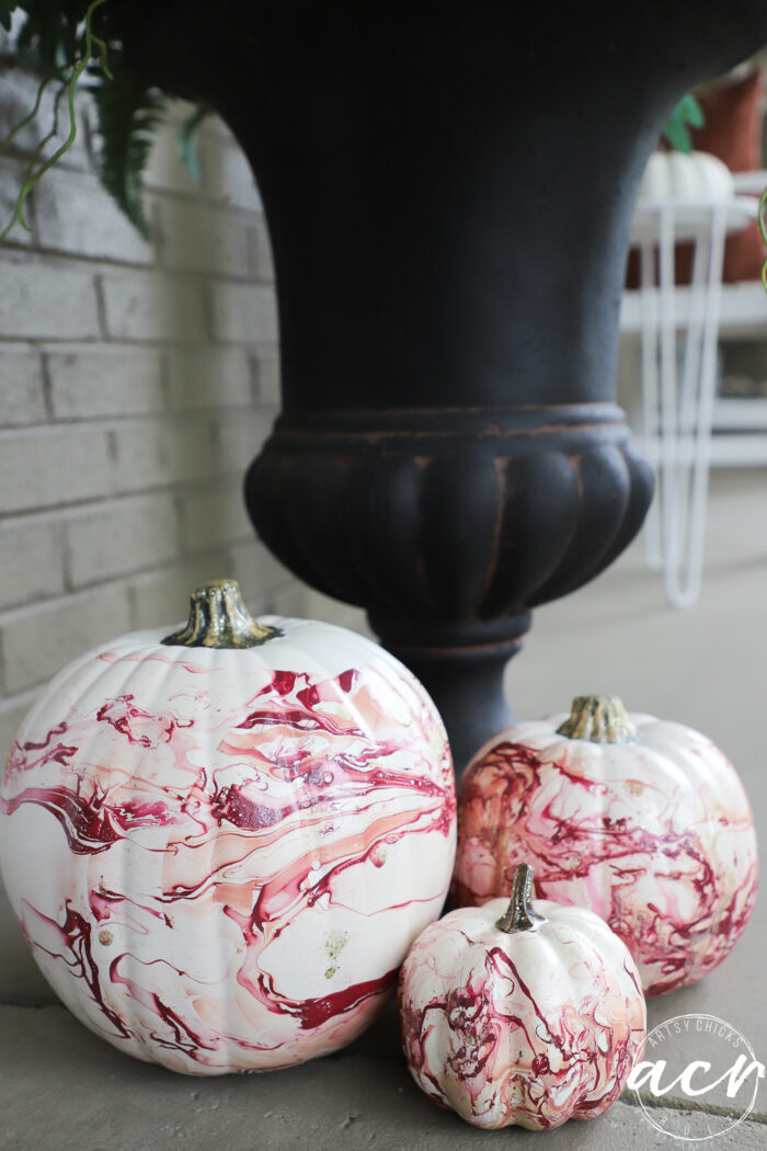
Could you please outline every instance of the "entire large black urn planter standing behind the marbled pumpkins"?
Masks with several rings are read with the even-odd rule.
[[[636,190],[677,99],[767,40],[767,2],[190,7],[132,3],[126,43],[223,115],[263,199],[283,410],[253,523],[368,610],[460,770],[508,721],[530,609],[642,524],[613,402]]]

